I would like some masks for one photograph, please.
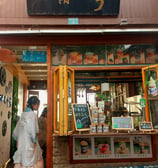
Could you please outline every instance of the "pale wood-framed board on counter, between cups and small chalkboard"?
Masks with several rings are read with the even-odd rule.
[[[133,118],[132,117],[112,117],[112,129],[115,130],[132,130]]]

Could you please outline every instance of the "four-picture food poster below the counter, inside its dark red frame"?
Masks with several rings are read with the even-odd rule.
[[[73,160],[152,158],[151,135],[73,136]]]

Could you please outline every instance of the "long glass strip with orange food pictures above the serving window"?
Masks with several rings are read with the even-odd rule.
[[[158,63],[155,45],[67,45],[52,46],[53,65],[128,65]]]

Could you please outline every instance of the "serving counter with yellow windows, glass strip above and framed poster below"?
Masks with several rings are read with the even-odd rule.
[[[60,64],[52,68],[54,133],[70,135],[71,163],[156,160],[157,120],[147,110],[146,89],[157,96],[157,86],[144,72],[150,67],[143,68],[142,74],[141,68],[134,71],[135,65],[155,62],[152,45],[52,47],[52,66]],[[133,69],[98,70],[95,65],[132,65]],[[91,70],[80,71],[83,67]]]

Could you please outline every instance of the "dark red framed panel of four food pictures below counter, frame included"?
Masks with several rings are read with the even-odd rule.
[[[70,137],[71,163],[153,161],[153,135],[73,135]]]

